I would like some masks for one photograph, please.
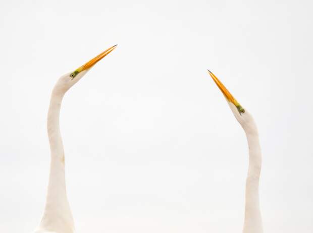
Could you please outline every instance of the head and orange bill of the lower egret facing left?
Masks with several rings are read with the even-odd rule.
[[[212,77],[216,85],[220,88],[223,95],[225,96],[230,109],[235,115],[235,118],[240,123],[242,128],[246,130],[254,130],[256,125],[252,118],[252,115],[247,111],[246,108],[242,107],[240,103],[234,98],[234,96],[227,90],[227,88],[223,85],[223,83],[209,70],[208,74]]]

